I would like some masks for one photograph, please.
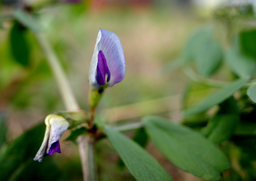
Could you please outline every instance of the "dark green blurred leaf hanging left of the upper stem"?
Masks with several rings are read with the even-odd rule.
[[[27,29],[18,22],[14,22],[11,29],[10,43],[14,59],[24,65],[29,65],[30,47],[26,39]]]

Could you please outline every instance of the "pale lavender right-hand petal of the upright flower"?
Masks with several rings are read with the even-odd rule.
[[[102,50],[106,57],[111,78],[109,86],[120,82],[124,78],[125,60],[121,42],[116,34],[111,31],[101,30],[101,40],[98,43],[98,49]]]

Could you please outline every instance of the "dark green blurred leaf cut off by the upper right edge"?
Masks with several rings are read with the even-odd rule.
[[[256,59],[256,30],[242,31],[239,37],[242,52]]]

